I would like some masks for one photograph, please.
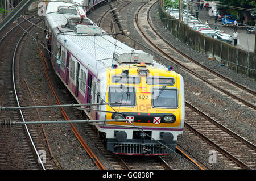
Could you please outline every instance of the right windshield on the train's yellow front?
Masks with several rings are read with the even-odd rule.
[[[155,107],[155,108],[179,107],[177,89],[164,89],[164,88],[153,89],[152,107]]]

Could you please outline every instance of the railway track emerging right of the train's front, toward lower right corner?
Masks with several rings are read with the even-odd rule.
[[[236,163],[234,169],[256,169],[256,147],[217,120],[186,102],[185,127]],[[226,159],[222,156],[222,159]]]

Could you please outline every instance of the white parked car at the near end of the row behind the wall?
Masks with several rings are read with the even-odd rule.
[[[213,39],[218,39],[218,40],[221,40],[221,41],[225,41],[227,43],[230,43],[232,44],[232,36],[231,35],[228,35],[226,33],[226,35],[223,35],[222,33],[219,33],[219,32],[216,32],[210,28],[202,28],[200,30],[197,30],[199,31],[200,33],[203,33],[204,35],[206,36],[209,36],[209,37],[212,37]]]

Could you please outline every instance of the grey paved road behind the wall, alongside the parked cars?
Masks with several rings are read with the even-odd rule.
[[[192,11],[195,12],[196,8],[196,5],[192,6]],[[213,28],[214,25],[216,25],[214,16],[209,16],[208,11],[206,11],[205,8],[203,10],[199,10],[199,20],[201,21],[201,23],[205,23],[205,21],[208,20],[209,26],[211,28]],[[224,27],[221,25],[221,21],[217,22],[217,27],[219,30],[222,30],[228,33],[229,35],[233,36],[233,27]],[[248,52],[254,52],[255,34],[247,34],[246,29],[240,27],[237,28],[237,32],[239,37],[237,47]]]

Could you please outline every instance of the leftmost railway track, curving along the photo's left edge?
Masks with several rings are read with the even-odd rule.
[[[36,15],[29,19],[34,23],[39,23],[42,20]],[[20,43],[26,36],[26,32],[20,26],[27,31],[34,27],[27,20],[23,20],[19,25],[11,28],[0,41],[1,52],[3,52],[0,57],[2,65],[1,92],[7,93],[1,95],[1,106],[17,107],[23,100],[22,90],[19,89],[18,66],[19,48],[22,47]],[[25,121],[26,114],[24,115],[22,111],[1,111],[1,120]],[[38,149],[42,148],[40,147],[42,145],[40,145],[36,134],[34,130],[23,126],[1,130],[1,169],[45,169],[42,159],[39,159],[40,151]]]

